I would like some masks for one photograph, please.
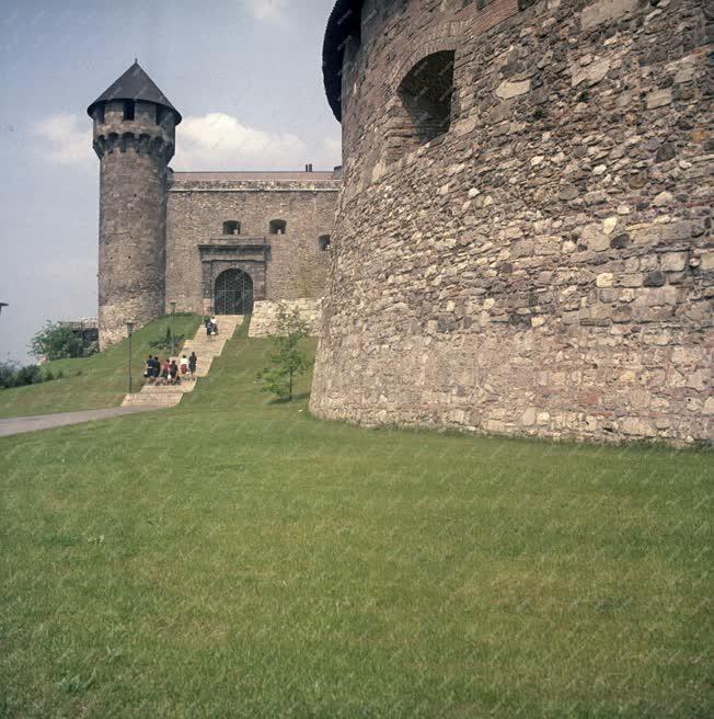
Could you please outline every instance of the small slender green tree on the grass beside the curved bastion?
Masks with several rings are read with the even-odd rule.
[[[257,375],[265,391],[292,401],[298,375],[310,367],[310,361],[298,349],[298,343],[306,336],[308,326],[300,319],[298,309],[289,310],[284,304],[278,305],[277,332],[273,338],[270,364]]]

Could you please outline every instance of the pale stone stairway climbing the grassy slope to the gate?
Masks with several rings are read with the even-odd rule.
[[[243,322],[242,315],[219,315],[216,318],[218,334],[209,339],[206,328],[201,324],[193,340],[187,340],[176,354],[176,362],[185,354],[191,356],[196,353],[198,363],[196,365],[196,381],[198,377],[205,377],[210,370],[214,358],[223,351],[226,342],[233,336],[235,328]],[[174,407],[186,392],[192,392],[196,386],[195,381],[184,379],[181,385],[169,385],[165,387],[156,385],[143,385],[140,391],[127,395],[122,407],[150,406],[157,409],[162,407]]]

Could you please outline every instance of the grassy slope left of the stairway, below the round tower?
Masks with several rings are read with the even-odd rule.
[[[195,315],[178,315],[175,318],[176,336],[185,334],[193,338],[200,318]],[[165,352],[151,350],[149,343],[165,338],[170,326],[168,317],[157,320],[138,330],[131,339],[131,357],[135,389],[143,381],[143,362],[151,354],[162,358]],[[103,407],[117,407],[127,390],[126,340],[100,354],[81,360],[58,360],[43,366],[43,372],[60,369],[64,379],[41,385],[0,390],[0,416],[22,416],[51,412],[93,410]],[[81,372],[80,375],[77,373]]]

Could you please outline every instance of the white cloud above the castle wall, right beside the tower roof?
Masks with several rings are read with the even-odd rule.
[[[307,156],[307,145],[297,135],[247,127],[224,113],[185,117],[176,135],[176,170],[291,169]]]

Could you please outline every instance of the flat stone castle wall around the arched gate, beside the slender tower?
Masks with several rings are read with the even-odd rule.
[[[199,246],[216,246],[211,256],[220,258],[218,248],[233,240],[252,249],[227,250],[214,274],[228,267],[247,272],[256,300],[321,296],[330,251],[319,238],[333,232],[338,186],[331,172],[175,173],[168,199],[166,303],[208,311],[209,271]],[[269,233],[273,219],[287,222],[285,235]],[[222,233],[230,220],[241,224],[235,238]]]

